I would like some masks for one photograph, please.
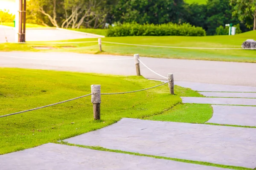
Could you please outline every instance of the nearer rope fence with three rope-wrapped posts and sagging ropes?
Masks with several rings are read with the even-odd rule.
[[[134,54],[134,59],[135,59],[135,65],[136,65],[136,69],[137,69],[137,72],[140,70],[140,62],[146,67],[148,68],[140,59],[139,59],[139,54]],[[137,67],[138,66],[138,67]],[[150,71],[152,71],[153,73],[157,74],[155,71],[151,70],[150,68],[148,68]],[[170,93],[171,94],[174,94],[174,79],[173,79],[173,74],[168,74],[168,78],[167,77],[164,77],[160,74],[157,74],[163,78],[166,78],[168,79],[168,82],[164,82],[160,85],[155,85],[153,87],[150,87],[150,88],[144,88],[144,89],[140,89],[140,90],[136,90],[136,91],[127,91],[127,92],[118,92],[118,93],[101,93],[101,85],[91,85],[91,93],[90,94],[86,94],[84,96],[79,96],[79,97],[76,97],[76,98],[73,98],[73,99],[69,99],[69,100],[65,100],[65,101],[62,101],[62,102],[57,102],[57,103],[54,103],[54,104],[51,104],[51,105],[45,105],[45,106],[41,106],[41,107],[38,107],[38,108],[33,108],[33,109],[29,109],[29,110],[26,110],[26,111],[20,111],[20,112],[16,112],[16,113],[11,113],[11,114],[6,114],[6,115],[2,115],[0,116],[1,117],[6,117],[6,116],[12,116],[12,115],[15,115],[15,114],[19,114],[19,113],[25,113],[25,112],[28,112],[28,111],[35,111],[35,110],[38,110],[38,109],[41,109],[41,108],[47,108],[49,106],[53,106],[53,105],[58,105],[58,104],[61,104],[61,103],[64,103],[64,102],[70,102],[72,100],[76,100],[76,99],[80,99],[82,97],[86,97],[86,96],[90,96],[91,95],[91,102],[93,103],[93,116],[94,116],[94,119],[95,120],[99,120],[100,119],[100,103],[101,103],[101,95],[113,95],[113,94],[128,94],[128,93],[135,93],[135,92],[140,92],[140,91],[145,91],[145,90],[149,90],[149,89],[152,89],[152,88],[156,88],[156,87],[159,87],[161,85],[165,85],[166,83],[169,84],[169,88],[170,88]],[[138,75],[140,76],[140,75]]]

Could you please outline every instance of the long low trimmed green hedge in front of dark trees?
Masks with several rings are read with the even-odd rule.
[[[125,23],[108,28],[107,37],[125,36],[205,36],[206,32],[201,27],[195,27],[188,23],[182,25],[167,24],[144,24]]]

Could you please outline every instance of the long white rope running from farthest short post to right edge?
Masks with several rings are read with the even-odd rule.
[[[110,44],[120,44],[120,45],[134,45],[134,46],[143,46],[143,47],[160,47],[160,48],[183,48],[183,49],[205,49],[205,50],[256,50],[256,48],[200,48],[200,47],[172,47],[172,46],[157,46],[157,45],[141,45],[141,44],[126,44],[119,42],[108,42],[102,41]]]

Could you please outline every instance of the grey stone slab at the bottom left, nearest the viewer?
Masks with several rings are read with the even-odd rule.
[[[0,160],[1,170],[224,170],[53,143],[0,155]]]

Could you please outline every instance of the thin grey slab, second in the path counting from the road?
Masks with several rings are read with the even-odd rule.
[[[199,92],[207,97],[241,97],[256,98],[256,93],[232,93],[232,92]]]

